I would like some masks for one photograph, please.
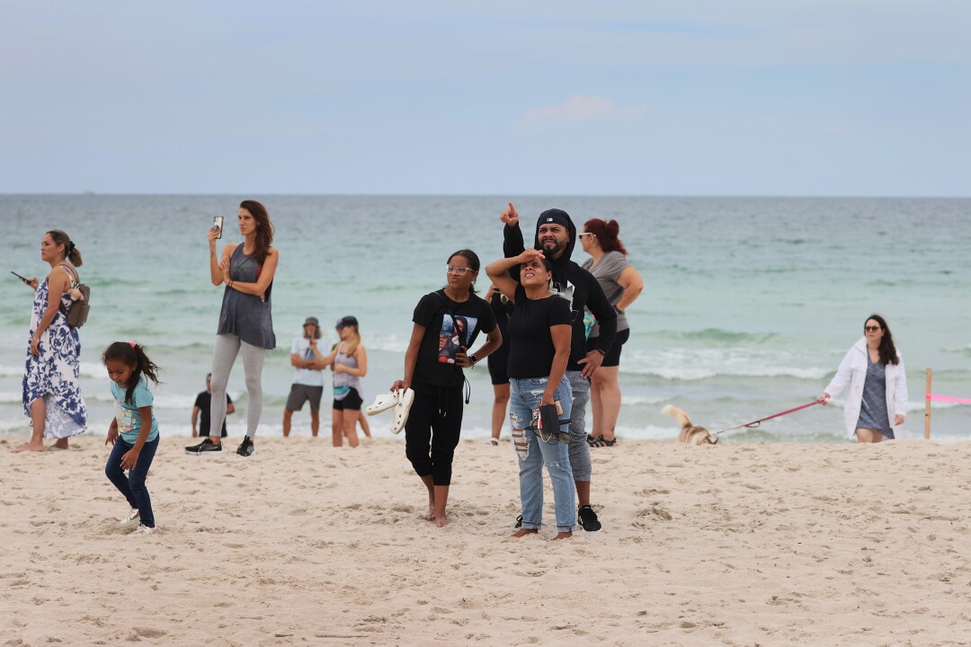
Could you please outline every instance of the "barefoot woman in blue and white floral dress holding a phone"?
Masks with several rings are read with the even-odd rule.
[[[23,372],[23,412],[31,421],[31,437],[15,452],[44,451],[44,438],[56,438],[51,448],[67,449],[68,438],[84,433],[87,406],[78,383],[81,339],[67,323],[69,290],[78,282],[81,250],[62,231],[41,239],[41,260],[50,265],[43,283],[20,277],[34,288],[30,342]]]

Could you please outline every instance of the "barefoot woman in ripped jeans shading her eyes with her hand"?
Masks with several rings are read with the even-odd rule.
[[[509,275],[516,266],[519,282]],[[559,429],[544,429],[540,437],[527,427],[541,404],[559,402],[563,408],[561,419],[570,419],[573,391],[565,377],[572,333],[570,306],[550,291],[552,265],[539,249],[526,249],[519,256],[499,259],[485,268],[485,274],[514,302],[508,326],[509,418],[519,455],[522,524],[513,536],[538,533],[543,525],[546,465],[556,512],[555,538],[565,539],[573,535],[577,522],[569,443],[559,441]]]

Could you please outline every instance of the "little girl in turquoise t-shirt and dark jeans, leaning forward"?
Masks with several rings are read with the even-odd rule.
[[[139,526],[132,534],[155,534],[155,517],[145,487],[145,476],[158,448],[158,422],[151,412],[149,380],[158,384],[158,367],[134,341],[116,341],[101,358],[112,380],[115,397],[115,419],[108,428],[105,444],[114,445],[105,475],[131,505],[131,511],[120,520],[126,525],[136,519]],[[124,470],[128,469],[125,477]]]

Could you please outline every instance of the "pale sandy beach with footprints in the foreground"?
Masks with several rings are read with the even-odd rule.
[[[604,531],[559,542],[509,536],[508,441],[461,442],[438,530],[401,441],[243,459],[163,437],[149,537],[117,525],[101,434],[19,442],[0,441],[3,645],[971,644],[968,442],[621,440],[594,451]]]

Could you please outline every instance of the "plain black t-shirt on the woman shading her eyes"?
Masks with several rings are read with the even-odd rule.
[[[516,286],[516,306],[509,317],[509,376],[549,377],[556,348],[551,326],[572,323],[566,299],[551,296],[532,301]]]

